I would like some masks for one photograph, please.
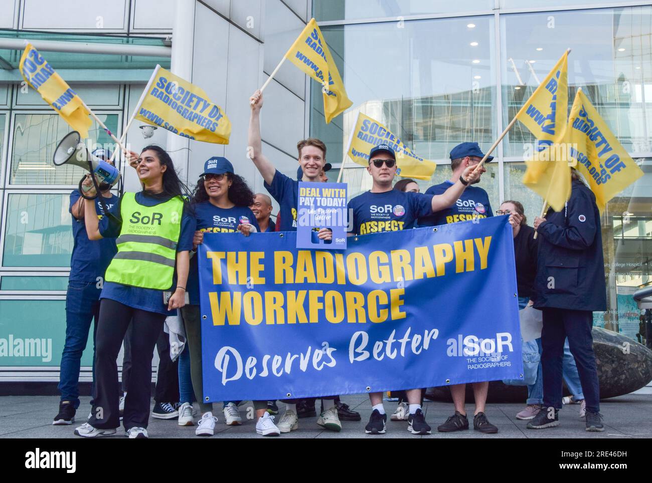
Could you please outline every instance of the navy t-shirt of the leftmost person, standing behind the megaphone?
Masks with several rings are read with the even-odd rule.
[[[70,206],[68,211],[72,214],[72,205],[80,199],[80,192],[76,189],[70,193]],[[106,209],[111,210],[114,204],[118,202],[118,197],[111,195],[110,198],[102,198]],[[95,210],[98,218],[102,219],[104,210],[99,199],[95,199]],[[86,234],[86,224],[81,219],[72,217],[72,256],[70,256],[70,277],[68,280],[80,282],[96,282],[98,277],[104,277],[106,268],[111,263],[113,255],[117,253],[115,247],[115,238],[102,238],[102,240],[89,240]]]

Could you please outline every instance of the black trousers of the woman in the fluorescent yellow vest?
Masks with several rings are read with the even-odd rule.
[[[100,321],[96,334],[95,404],[89,423],[100,429],[120,426],[119,383],[116,358],[129,324],[131,363],[129,391],[125,399],[125,429],[147,428],[151,398],[152,357],[166,316],[133,309],[111,299],[100,303]]]

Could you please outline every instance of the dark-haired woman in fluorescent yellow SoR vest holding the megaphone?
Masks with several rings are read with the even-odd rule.
[[[134,153],[135,154],[135,153]],[[147,146],[140,157],[128,156],[143,186],[125,193],[108,216],[87,216],[90,240],[116,237],[118,253],[104,276],[96,335],[95,405],[91,418],[75,430],[82,437],[115,434],[120,426],[117,363],[123,338],[132,324],[132,370],[125,400],[125,435],[146,438],[151,397],[151,368],[156,339],[166,317],[185,305],[194,217],[187,190],[168,153]],[[86,186],[93,186],[88,179]],[[87,192],[95,194],[95,189]],[[95,202],[85,200],[95,212]]]

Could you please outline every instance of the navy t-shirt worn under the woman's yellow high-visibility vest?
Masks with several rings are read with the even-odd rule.
[[[109,210],[110,213],[120,218],[120,202],[122,199],[113,205]],[[142,191],[136,193],[136,202],[143,206],[156,206],[166,202],[158,198],[153,198],[145,195]],[[117,238],[120,235],[122,224],[118,223],[115,219],[105,216],[100,219],[100,234],[104,238]],[[192,237],[195,232],[195,219],[188,215],[184,210],[181,215],[181,233],[179,234],[179,241],[177,243],[177,252],[191,251],[192,250]],[[177,275],[172,280],[172,287],[176,286]],[[153,288],[140,288],[123,285],[113,282],[105,282],[100,299],[111,299],[133,307],[134,309],[147,310],[148,312],[156,312],[167,316],[174,316],[177,314],[176,310],[168,311],[168,306],[163,304],[162,290],[155,290]]]

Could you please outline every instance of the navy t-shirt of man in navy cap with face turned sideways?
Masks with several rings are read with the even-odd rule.
[[[428,195],[441,195],[452,186],[450,181],[445,181],[426,190]],[[436,227],[458,221],[469,221],[476,218],[494,216],[489,204],[489,195],[479,186],[467,186],[460,198],[451,208],[434,212],[432,215],[419,218],[420,227]]]

